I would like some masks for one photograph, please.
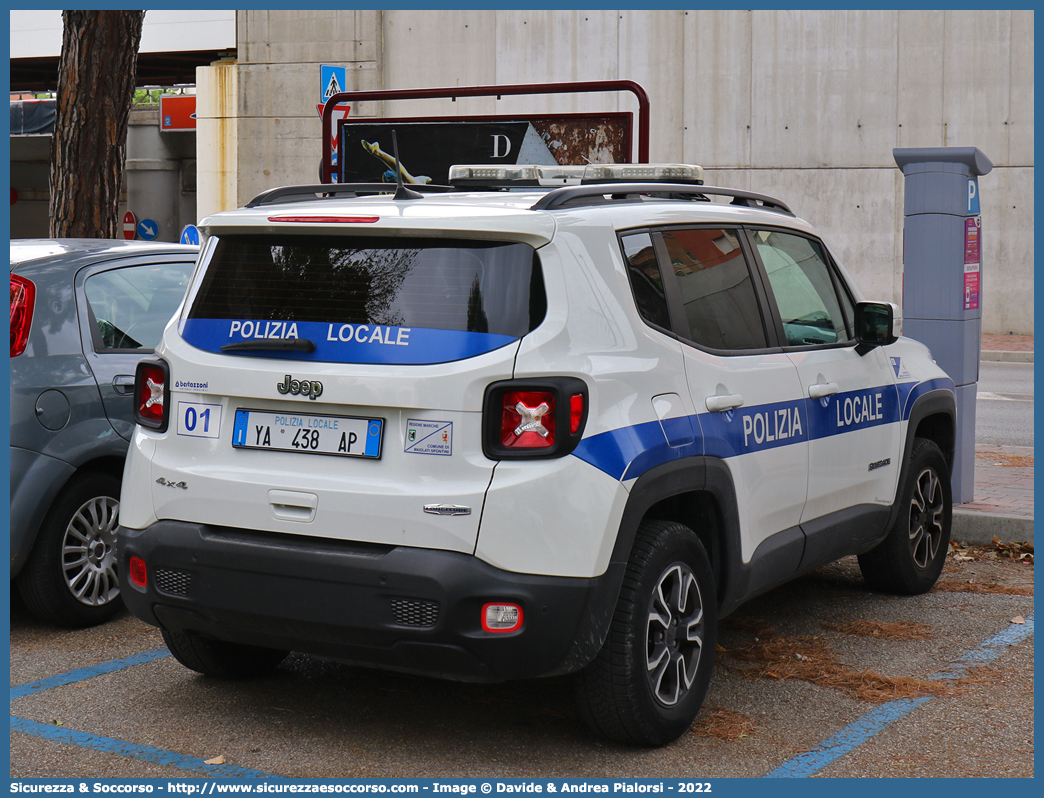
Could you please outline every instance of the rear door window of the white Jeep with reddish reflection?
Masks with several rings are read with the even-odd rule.
[[[663,232],[689,323],[689,338],[710,349],[767,346],[746,258],[734,230]]]

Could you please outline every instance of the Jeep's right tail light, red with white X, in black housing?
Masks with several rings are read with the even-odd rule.
[[[482,404],[482,451],[491,460],[561,457],[580,442],[587,385],[574,377],[494,382]]]

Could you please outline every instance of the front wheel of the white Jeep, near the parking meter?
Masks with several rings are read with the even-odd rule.
[[[887,537],[859,555],[859,569],[875,590],[917,595],[930,590],[943,571],[953,518],[949,469],[934,441],[914,442],[899,502]]]

